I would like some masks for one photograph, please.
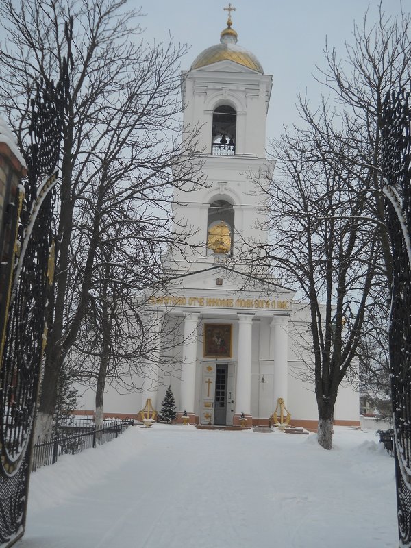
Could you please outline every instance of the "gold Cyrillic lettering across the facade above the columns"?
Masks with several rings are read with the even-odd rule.
[[[195,306],[205,308],[256,308],[264,310],[289,310],[290,301],[286,299],[251,299],[250,297],[174,297],[171,295],[153,295],[150,305],[157,306]]]

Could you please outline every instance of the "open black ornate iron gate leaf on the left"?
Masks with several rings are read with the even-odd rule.
[[[30,456],[47,291],[52,279],[52,220],[64,90],[38,84],[32,101],[28,177],[16,196],[7,288],[0,311],[0,546],[24,532]],[[40,184],[39,184],[40,183]]]

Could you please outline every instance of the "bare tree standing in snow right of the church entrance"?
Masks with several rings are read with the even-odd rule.
[[[330,160],[317,137],[311,128],[276,143],[279,174],[265,188],[272,243],[258,250],[256,267],[273,265],[308,302],[304,378],[315,385],[319,443],[331,449],[338,387],[358,356],[379,248],[374,223],[364,219],[366,196],[353,190],[355,173],[340,156]]]

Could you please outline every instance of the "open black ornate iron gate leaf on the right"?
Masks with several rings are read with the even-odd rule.
[[[390,370],[399,546],[411,547],[411,113],[410,94],[386,97],[382,138],[386,225],[393,252]]]

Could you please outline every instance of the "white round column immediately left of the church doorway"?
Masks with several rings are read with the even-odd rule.
[[[195,371],[197,364],[197,327],[199,312],[185,314],[182,358],[182,382],[180,385],[179,409],[194,414],[195,408]]]

